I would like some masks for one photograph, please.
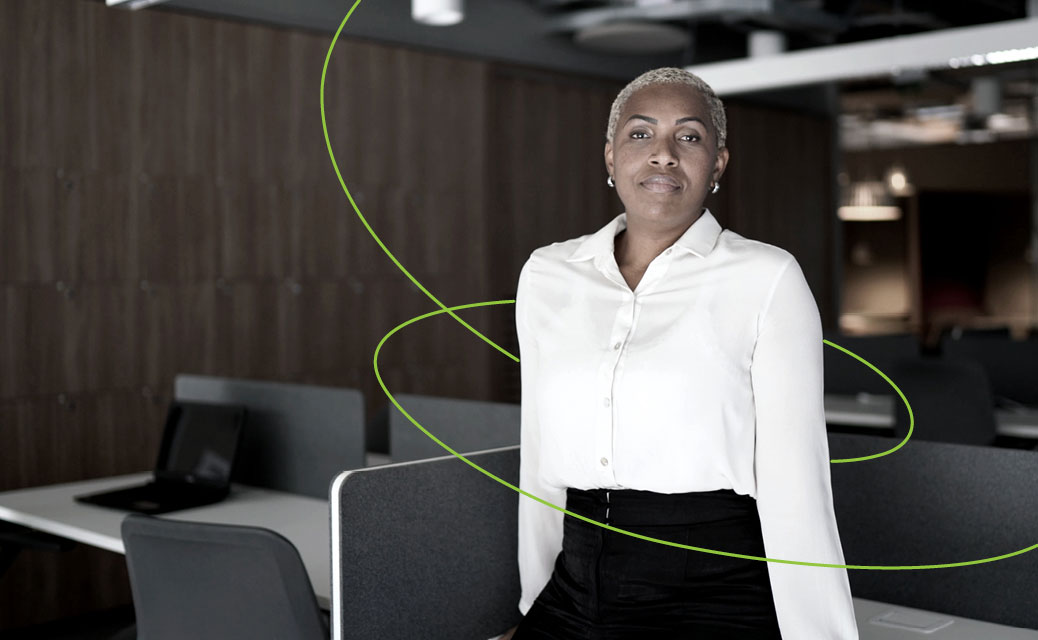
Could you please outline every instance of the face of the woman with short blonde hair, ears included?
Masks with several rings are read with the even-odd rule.
[[[710,109],[693,87],[651,85],[624,105],[605,166],[628,217],[678,225],[699,217],[728,164]]]

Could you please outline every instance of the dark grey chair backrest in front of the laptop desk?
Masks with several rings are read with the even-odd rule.
[[[122,542],[140,640],[328,637],[299,552],[273,531],[131,514]]]

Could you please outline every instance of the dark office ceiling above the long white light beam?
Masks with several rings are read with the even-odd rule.
[[[744,57],[748,34],[760,29],[781,31],[787,49],[797,50],[1025,18],[1028,1],[466,0],[463,22],[431,27],[411,19],[411,0],[363,0],[345,34],[629,79],[653,66]],[[168,0],[160,6],[331,33],[352,4]],[[665,51],[648,52],[658,44]]]

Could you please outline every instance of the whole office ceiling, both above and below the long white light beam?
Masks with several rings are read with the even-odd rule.
[[[104,0],[97,0],[103,2]],[[744,58],[750,34],[782,34],[787,51],[1038,17],[1038,0],[465,0],[449,27],[414,22],[411,0],[363,0],[344,37],[578,75],[629,80],[655,66]],[[331,34],[353,0],[166,0],[188,11]],[[116,10],[116,9],[111,9]],[[659,51],[653,52],[653,50]],[[1038,63],[940,69],[840,85],[845,148],[982,142],[1034,135]],[[996,81],[978,82],[980,76]],[[978,107],[978,89],[995,105]],[[822,93],[760,93],[831,112]],[[987,102],[991,102],[988,100]],[[993,117],[992,117],[993,116]]]

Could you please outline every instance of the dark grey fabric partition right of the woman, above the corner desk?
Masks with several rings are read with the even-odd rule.
[[[885,451],[898,441],[829,435],[829,455]],[[979,560],[1038,542],[1038,453],[909,441],[894,453],[830,467],[848,564]],[[1038,628],[1038,550],[939,569],[849,569],[857,597],[1000,624]]]

